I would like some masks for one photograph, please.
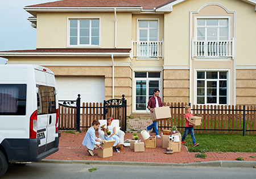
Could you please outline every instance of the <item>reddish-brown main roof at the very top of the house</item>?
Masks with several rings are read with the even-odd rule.
[[[155,9],[177,0],[63,0],[26,7],[142,7]]]

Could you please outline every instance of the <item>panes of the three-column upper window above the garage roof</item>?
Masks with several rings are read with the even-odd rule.
[[[98,46],[100,45],[99,19],[70,19],[70,46]]]

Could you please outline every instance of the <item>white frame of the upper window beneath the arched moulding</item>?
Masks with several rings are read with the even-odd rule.
[[[207,16],[207,15],[195,15],[194,17],[194,38],[195,40],[197,40],[197,19],[228,19],[228,40],[231,40],[231,20],[232,20],[232,16],[231,15],[222,15],[222,16],[218,16],[218,15],[214,15],[214,16]],[[209,27],[217,27],[219,28],[220,26],[209,26]],[[206,35],[205,35],[206,37]],[[217,39],[219,39],[219,32],[217,32]],[[225,41],[225,40],[205,40],[205,41]]]

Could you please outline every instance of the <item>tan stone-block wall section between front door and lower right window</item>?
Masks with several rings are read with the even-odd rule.
[[[163,70],[163,102],[189,102],[189,70]]]

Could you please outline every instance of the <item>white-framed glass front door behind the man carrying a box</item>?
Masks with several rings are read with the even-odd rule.
[[[149,113],[147,102],[154,89],[161,89],[162,82],[160,72],[135,72],[135,112]],[[161,97],[162,93],[159,94]]]

